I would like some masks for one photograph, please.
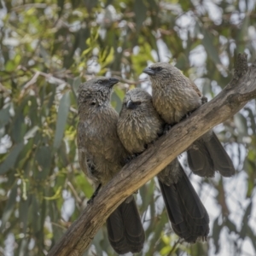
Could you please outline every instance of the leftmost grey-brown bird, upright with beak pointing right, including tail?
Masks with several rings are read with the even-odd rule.
[[[127,151],[117,135],[118,113],[111,107],[113,84],[118,79],[98,77],[79,86],[77,143],[79,164],[96,191],[125,165]],[[117,253],[138,253],[145,240],[133,195],[107,219],[108,240]]]

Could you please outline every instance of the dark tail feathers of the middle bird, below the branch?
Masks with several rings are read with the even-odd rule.
[[[168,186],[159,180],[172,229],[185,241],[206,241],[209,233],[207,210],[183,171],[183,167],[179,165],[179,168],[182,175],[177,183]]]

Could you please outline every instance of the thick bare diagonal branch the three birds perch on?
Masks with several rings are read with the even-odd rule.
[[[84,209],[79,219],[50,250],[49,255],[70,256],[84,253],[96,235],[96,231],[128,195],[148,182],[198,137],[238,112],[246,104],[241,99],[246,101],[253,99],[256,92],[256,67],[252,65],[247,68],[244,65],[244,56],[238,56],[238,62],[243,62],[241,65],[243,76],[239,73],[239,78],[236,76],[229,84],[231,85],[229,88],[221,91],[211,102],[204,104],[188,119],[175,125],[137,159],[124,166],[121,172],[96,196],[94,203]]]

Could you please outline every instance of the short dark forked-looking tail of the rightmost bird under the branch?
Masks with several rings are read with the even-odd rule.
[[[206,134],[195,141],[193,146],[188,150],[188,162],[192,172],[201,177],[213,177],[216,171],[224,177],[235,174],[229,154],[213,131],[211,135]]]

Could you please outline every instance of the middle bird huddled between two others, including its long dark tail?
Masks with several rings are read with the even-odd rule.
[[[131,155],[142,153],[153,143],[163,125],[148,92],[137,88],[126,93],[117,127],[119,138]],[[178,160],[173,160],[157,177],[174,232],[188,242],[206,241],[207,210]]]

